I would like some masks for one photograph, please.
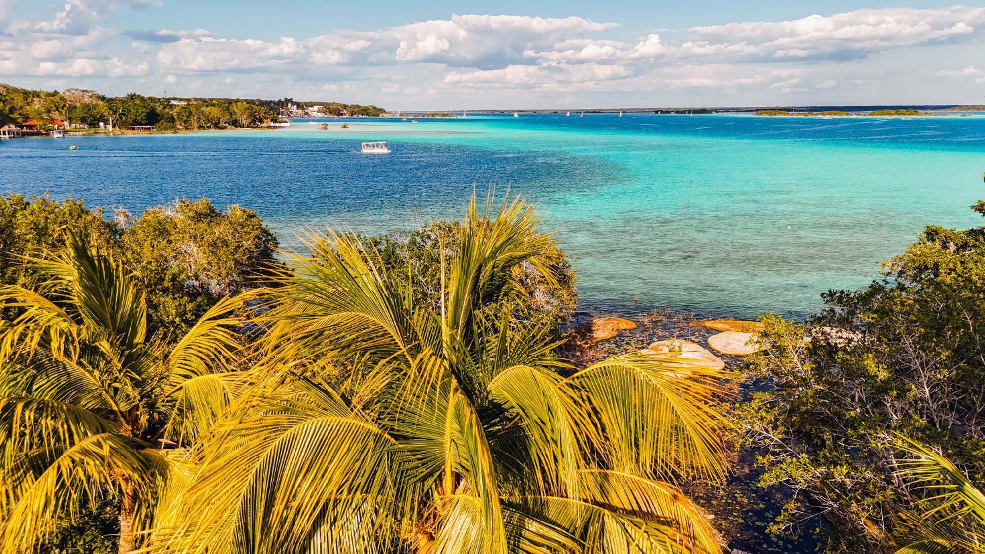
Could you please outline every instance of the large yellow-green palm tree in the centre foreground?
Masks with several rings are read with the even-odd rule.
[[[573,371],[504,305],[522,263],[549,275],[552,243],[522,200],[473,200],[433,311],[356,236],[313,237],[272,292],[257,383],[194,450],[152,544],[720,552],[661,478],[722,476],[723,374],[648,351]]]

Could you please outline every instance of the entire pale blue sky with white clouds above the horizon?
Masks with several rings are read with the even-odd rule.
[[[390,109],[985,104],[985,7],[0,0],[0,82]]]

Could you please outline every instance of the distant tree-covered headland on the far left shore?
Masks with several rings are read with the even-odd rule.
[[[159,98],[130,93],[124,97],[106,97],[95,91],[66,89],[33,91],[0,84],[0,125],[21,124],[35,119],[68,120],[99,126],[99,122],[123,128],[128,125],[153,125],[158,130],[217,129],[225,127],[260,127],[280,119],[292,99],[279,101]],[[370,105],[338,103],[320,104],[329,114],[379,115],[382,110]]]

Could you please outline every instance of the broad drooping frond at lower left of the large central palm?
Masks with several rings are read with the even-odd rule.
[[[391,532],[396,443],[323,383],[257,385],[197,449],[200,472],[176,503],[188,517],[163,518],[176,526],[159,527],[155,548],[304,553],[329,529],[365,544]]]

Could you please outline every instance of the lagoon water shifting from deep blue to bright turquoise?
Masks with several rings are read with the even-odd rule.
[[[967,206],[985,197],[981,115],[328,123],[5,141],[0,191],[133,212],[207,196],[257,210],[292,245],[308,227],[380,233],[458,217],[473,190],[508,188],[558,230],[582,309],[734,316],[817,310],[821,292],[878,277],[924,225],[977,225]],[[362,140],[393,154],[362,156]]]

